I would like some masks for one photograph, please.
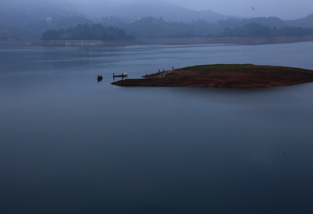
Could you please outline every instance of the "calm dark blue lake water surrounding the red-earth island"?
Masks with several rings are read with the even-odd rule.
[[[313,69],[312,50],[0,46],[0,213],[310,213],[313,83],[110,83],[113,72],[141,78],[172,66]]]

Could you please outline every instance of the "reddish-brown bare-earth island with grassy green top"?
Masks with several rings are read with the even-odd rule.
[[[119,86],[277,87],[313,82],[313,70],[253,64],[197,65],[113,82]]]

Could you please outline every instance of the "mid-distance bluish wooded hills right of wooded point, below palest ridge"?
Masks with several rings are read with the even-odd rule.
[[[269,31],[275,35],[280,33],[283,35],[284,32],[270,32],[270,28],[279,29],[287,27],[287,25],[277,17],[256,17],[256,18],[244,18],[234,19],[229,18],[227,20],[218,20],[217,23],[208,22],[206,20],[197,20],[191,22],[172,22],[164,21],[162,18],[146,17],[136,21],[129,21],[127,19],[121,19],[114,16],[96,19],[96,22],[103,24],[104,26],[118,26],[125,29],[127,34],[131,34],[137,38],[190,38],[198,37],[205,38],[208,35],[221,37],[226,35],[252,35],[258,34],[263,35],[262,30]],[[250,24],[255,23],[255,24]],[[250,25],[247,25],[250,24]],[[254,29],[255,28],[255,29]],[[230,30],[239,29],[238,32]],[[249,33],[242,33],[241,30],[249,30]],[[254,31],[256,30],[256,31]],[[286,34],[286,33],[285,33]]]

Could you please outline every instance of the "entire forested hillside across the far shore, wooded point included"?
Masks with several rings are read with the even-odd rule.
[[[16,1],[22,3],[15,7]],[[137,3],[131,3],[128,6],[134,8],[136,5]],[[212,11],[190,11],[175,4],[162,2],[160,5],[155,5],[155,9],[156,11],[163,9],[168,14],[166,18],[161,17],[164,11],[153,13],[155,17],[160,14],[159,18],[136,17],[136,11],[141,12],[138,14],[150,13],[151,8],[140,11],[142,6],[127,13],[128,17],[120,16],[124,18],[110,16],[89,19],[74,5],[63,0],[3,0],[0,7],[0,39],[2,43],[5,40],[34,41],[38,40],[43,32],[45,32],[43,39],[131,39],[128,35],[149,39],[205,38],[208,35],[210,37],[287,36],[311,35],[311,28],[313,28],[313,14],[287,21],[278,17],[239,18],[223,16]],[[99,5],[99,8],[101,7]],[[125,9],[126,6],[124,5],[123,8]],[[123,8],[119,8],[120,12]],[[181,13],[180,16],[175,16],[177,13]],[[184,13],[188,13],[188,19],[179,18],[184,16]],[[173,16],[176,18],[170,20]],[[90,34],[82,31],[86,23]],[[78,29],[79,24],[81,29]],[[97,24],[102,26],[99,31],[94,29]]]

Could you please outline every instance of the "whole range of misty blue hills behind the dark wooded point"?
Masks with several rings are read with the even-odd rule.
[[[225,33],[222,35],[222,32],[230,35],[236,28],[243,28],[238,32],[247,29],[251,31],[252,27],[258,30],[274,27],[313,28],[313,14],[288,21],[278,17],[240,18],[209,10],[195,11],[160,0],[136,0],[131,3],[107,0],[0,1],[0,39],[36,40],[48,29],[70,29],[85,23],[90,26],[95,23],[105,27],[117,26],[138,38],[204,38],[207,35],[223,36]],[[259,25],[247,25],[249,23]],[[293,28],[288,29],[295,31]],[[278,30],[273,32],[273,35],[286,34]]]

